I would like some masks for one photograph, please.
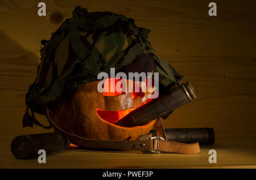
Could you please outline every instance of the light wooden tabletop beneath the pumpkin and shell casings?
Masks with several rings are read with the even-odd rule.
[[[67,149],[46,156],[19,160],[10,151],[15,136],[0,138],[0,168],[256,168],[256,133],[218,134],[214,145],[202,145],[198,155],[144,154],[139,151],[90,151]],[[209,150],[217,152],[217,163],[208,162]]]

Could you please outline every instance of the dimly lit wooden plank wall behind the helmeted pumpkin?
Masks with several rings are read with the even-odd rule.
[[[151,29],[155,52],[196,89],[197,100],[177,109],[166,127],[213,127],[216,132],[256,132],[255,1],[214,1],[217,16],[208,15],[210,1],[181,0],[44,0],[47,16],[37,15],[36,0],[0,2],[0,134],[49,132],[22,128],[24,96],[36,76],[40,41],[59,23],[52,12],[70,18],[75,6],[112,11]],[[44,124],[47,121],[39,117]]]

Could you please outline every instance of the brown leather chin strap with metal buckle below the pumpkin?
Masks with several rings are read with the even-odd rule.
[[[46,117],[56,131],[67,136],[71,143],[90,149],[117,149],[125,151],[142,151],[144,153],[183,153],[197,154],[200,153],[199,143],[185,144],[171,142],[166,139],[163,123],[160,118],[155,123],[157,137],[152,137],[151,133],[139,136],[138,140],[98,140],[88,139],[75,134],[69,133],[58,127],[49,117],[49,110],[46,109]],[[160,139],[160,137],[162,140]]]

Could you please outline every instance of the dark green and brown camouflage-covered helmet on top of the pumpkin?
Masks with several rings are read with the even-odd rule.
[[[95,81],[99,72],[109,74],[111,67],[115,72],[159,72],[163,87],[180,83],[183,76],[158,57],[147,41],[149,32],[123,15],[76,7],[73,17],[49,41],[42,41],[38,75],[26,95],[23,127],[43,126],[34,112],[44,114],[45,105],[61,92]]]

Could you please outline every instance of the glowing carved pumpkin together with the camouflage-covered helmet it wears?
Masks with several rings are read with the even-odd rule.
[[[147,41],[148,32],[123,15],[89,13],[76,7],[73,18],[65,20],[49,41],[42,41],[38,75],[26,95],[23,127],[43,126],[36,121],[34,112],[45,115],[49,109],[57,126],[84,138],[135,140],[149,132],[154,119],[134,127],[114,123],[150,101],[152,92],[111,95],[97,91],[100,82],[97,75],[110,74],[110,68],[115,68],[115,75],[118,72],[159,73],[159,87],[155,89],[159,93],[181,82],[183,76],[155,54]],[[125,81],[143,89],[146,79]]]

